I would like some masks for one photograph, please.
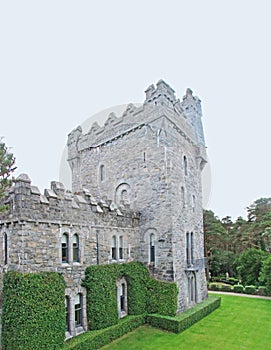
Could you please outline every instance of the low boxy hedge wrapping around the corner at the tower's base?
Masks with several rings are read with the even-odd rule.
[[[209,296],[207,300],[176,317],[147,315],[146,320],[153,327],[162,328],[174,333],[181,333],[217,309],[220,303],[220,297]]]

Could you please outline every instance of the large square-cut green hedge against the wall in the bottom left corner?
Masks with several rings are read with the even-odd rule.
[[[65,283],[50,273],[8,272],[3,280],[2,349],[61,349]]]

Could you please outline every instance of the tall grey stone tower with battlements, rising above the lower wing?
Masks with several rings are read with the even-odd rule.
[[[87,134],[81,127],[69,134],[73,191],[88,189],[140,213],[140,239],[131,248],[154,276],[177,283],[183,311],[207,297],[201,103],[190,89],[180,101],[163,80],[145,93],[142,106],[129,104],[122,116],[111,113],[104,126],[94,123]],[[121,245],[118,237],[112,245]]]

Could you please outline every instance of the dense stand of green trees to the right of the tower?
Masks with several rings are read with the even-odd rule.
[[[229,274],[241,278],[244,285],[258,285],[261,266],[271,253],[271,198],[252,203],[247,208],[247,220],[238,217],[234,222],[229,216],[219,219],[211,210],[204,211],[203,220],[211,275],[225,278]],[[266,278],[262,281],[268,283]]]

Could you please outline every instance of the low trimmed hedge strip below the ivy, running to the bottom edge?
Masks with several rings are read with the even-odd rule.
[[[145,324],[145,315],[127,316],[118,324],[96,331],[86,332],[68,340],[65,350],[96,350]]]

